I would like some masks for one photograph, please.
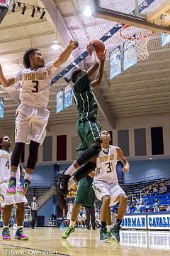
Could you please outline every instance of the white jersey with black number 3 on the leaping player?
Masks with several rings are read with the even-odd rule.
[[[55,73],[53,62],[49,62],[42,68],[23,68],[14,75],[15,81],[22,81],[20,100],[23,105],[30,107],[47,107],[50,95],[50,83]]]

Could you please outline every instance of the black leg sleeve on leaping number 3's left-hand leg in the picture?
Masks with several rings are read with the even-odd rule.
[[[11,166],[18,166],[21,159],[21,154],[23,153],[25,143],[16,142],[11,156]]]

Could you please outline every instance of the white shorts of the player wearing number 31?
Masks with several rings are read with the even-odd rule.
[[[111,196],[111,203],[110,206],[114,206],[118,203],[116,198],[121,194],[124,193],[122,188],[118,184],[108,182],[108,181],[94,181],[93,183],[94,192],[96,194],[96,198],[102,201],[103,196]]]

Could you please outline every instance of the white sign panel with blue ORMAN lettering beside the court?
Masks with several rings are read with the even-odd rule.
[[[122,228],[147,229],[146,215],[125,215]]]

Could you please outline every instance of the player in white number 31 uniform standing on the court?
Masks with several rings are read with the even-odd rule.
[[[97,176],[94,177],[94,191],[98,200],[103,201],[101,206],[101,240],[108,240],[114,238],[118,242],[120,241],[119,231],[123,217],[125,215],[127,207],[127,196],[118,183],[118,177],[116,174],[117,158],[124,164],[123,171],[129,172],[130,166],[128,161],[123,155],[123,151],[118,146],[111,146],[111,136],[109,132],[101,132],[102,150],[97,159]],[[116,225],[110,230],[110,234],[107,232],[106,221],[109,214],[109,206],[113,206],[119,202],[118,217]]]

